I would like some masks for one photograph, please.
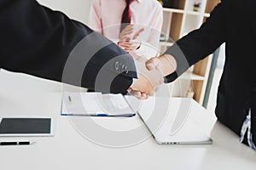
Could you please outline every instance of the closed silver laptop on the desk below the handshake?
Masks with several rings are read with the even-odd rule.
[[[150,97],[141,103],[137,114],[158,144],[212,144],[204,127],[196,122],[196,116],[206,112],[193,99]]]

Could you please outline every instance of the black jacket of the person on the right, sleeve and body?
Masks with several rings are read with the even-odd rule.
[[[200,29],[192,31],[166,51],[177,59],[172,82],[197,61],[226,43],[224,73],[218,87],[218,120],[240,134],[256,87],[256,1],[223,0]],[[256,122],[255,122],[256,123]],[[256,132],[253,132],[256,135]]]

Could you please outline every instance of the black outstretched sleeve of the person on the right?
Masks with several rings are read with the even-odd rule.
[[[194,65],[207,55],[212,54],[224,41],[226,35],[225,17],[226,3],[223,0],[213,9],[211,17],[200,29],[190,32],[178,40],[165,54],[172,54],[177,60],[177,71],[166,77],[166,82],[172,82],[183,74],[189,66]]]

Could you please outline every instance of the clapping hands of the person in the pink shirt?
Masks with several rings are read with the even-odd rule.
[[[137,37],[144,31],[141,28],[139,31],[134,33],[134,26],[126,26],[123,31],[120,32],[118,45],[120,48],[123,48],[126,52],[131,52],[140,48],[141,42],[137,41]],[[132,34],[134,34],[132,36]],[[132,36],[132,37],[131,37]]]

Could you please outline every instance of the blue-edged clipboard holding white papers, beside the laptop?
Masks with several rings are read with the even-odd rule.
[[[122,94],[64,92],[62,116],[134,116]]]

